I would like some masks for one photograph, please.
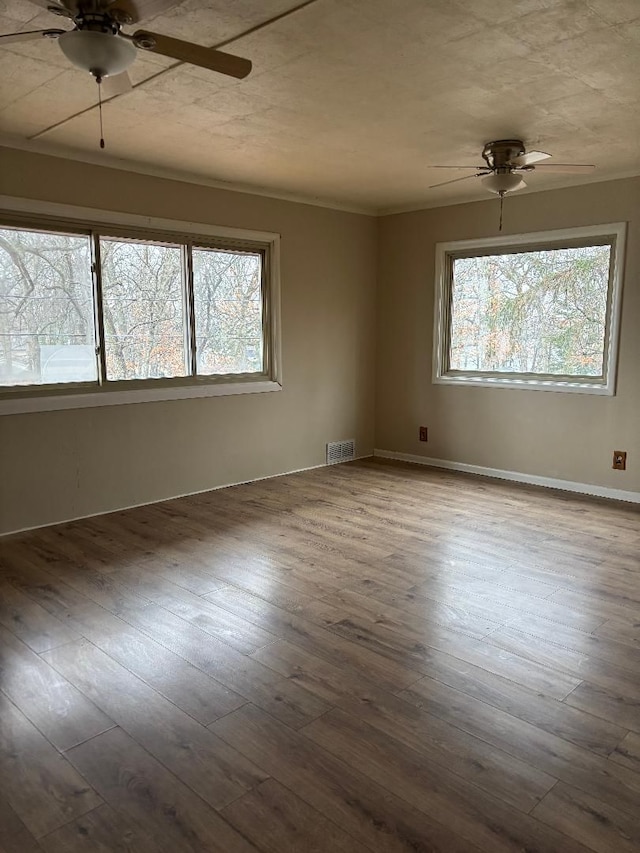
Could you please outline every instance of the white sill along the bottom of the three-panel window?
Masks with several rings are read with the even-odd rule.
[[[165,385],[158,388],[84,391],[75,394],[40,393],[33,397],[0,400],[0,416],[27,414],[29,412],[57,412],[64,409],[86,409],[97,406],[121,406],[127,403],[190,400],[199,397],[226,397],[237,394],[264,394],[281,390],[282,385],[279,382],[262,379],[255,382],[220,382],[201,386]]]

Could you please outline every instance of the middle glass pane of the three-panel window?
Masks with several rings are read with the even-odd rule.
[[[107,379],[186,376],[179,246],[100,240]]]

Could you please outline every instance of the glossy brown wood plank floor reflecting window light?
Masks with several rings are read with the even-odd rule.
[[[639,522],[367,460],[6,537],[0,853],[637,853]]]

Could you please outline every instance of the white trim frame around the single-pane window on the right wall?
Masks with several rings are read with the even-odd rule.
[[[562,391],[575,394],[601,394],[613,396],[616,387],[618,360],[618,340],[620,333],[620,312],[622,307],[622,281],[624,275],[626,222],[614,222],[604,225],[589,225],[579,228],[564,228],[555,231],[536,231],[530,234],[510,234],[499,237],[483,237],[473,240],[437,243],[435,268],[435,310],[433,327],[433,382],[437,385],[458,385],[464,387],[516,388],[530,391]],[[590,237],[615,237],[613,249],[613,273],[611,281],[611,307],[609,333],[605,341],[604,382],[585,382],[569,378],[503,378],[496,373],[492,376],[474,376],[471,373],[456,375],[446,372],[447,324],[450,322],[450,283],[447,281],[448,256],[456,252],[475,249],[503,249],[511,246],[550,246],[563,241],[588,239]]]

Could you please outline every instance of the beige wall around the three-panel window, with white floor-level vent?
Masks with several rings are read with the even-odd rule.
[[[0,417],[0,532],[373,449],[371,217],[0,149],[0,193],[282,235],[284,390]]]

